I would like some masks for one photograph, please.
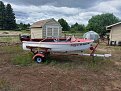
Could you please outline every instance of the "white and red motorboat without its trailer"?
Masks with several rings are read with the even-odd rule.
[[[22,41],[24,50],[32,48],[47,49],[52,52],[83,51],[89,49],[93,40],[69,37],[67,39],[43,39],[36,41]]]

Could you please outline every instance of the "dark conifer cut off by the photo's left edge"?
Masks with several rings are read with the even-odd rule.
[[[5,5],[0,1],[0,29],[5,28]]]

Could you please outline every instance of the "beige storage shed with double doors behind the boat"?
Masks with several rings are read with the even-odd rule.
[[[31,25],[31,39],[61,37],[62,27],[54,18],[41,20]]]

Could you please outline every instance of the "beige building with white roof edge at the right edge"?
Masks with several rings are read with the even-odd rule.
[[[109,31],[109,44],[121,45],[121,22],[106,26],[106,30]]]

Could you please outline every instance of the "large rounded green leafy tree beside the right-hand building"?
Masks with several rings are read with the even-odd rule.
[[[106,34],[106,26],[119,21],[119,18],[111,13],[96,15],[88,21],[87,29],[93,30],[103,36]]]

